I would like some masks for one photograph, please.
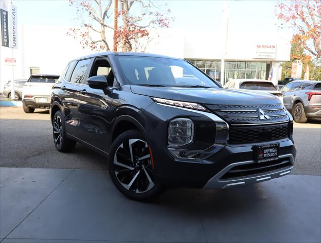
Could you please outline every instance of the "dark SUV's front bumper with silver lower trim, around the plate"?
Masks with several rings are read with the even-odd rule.
[[[227,145],[218,153],[204,160],[174,159],[169,153],[154,154],[161,156],[162,170],[158,179],[168,186],[192,188],[226,188],[267,181],[288,175],[294,166],[296,148],[291,139],[271,141],[279,143],[279,159],[273,163],[257,163],[254,159],[254,145]],[[155,156],[156,155],[156,156]],[[157,164],[155,165],[155,167]],[[241,167],[246,166],[243,173]],[[234,168],[234,169],[233,169]],[[233,176],[233,171],[237,171]]]

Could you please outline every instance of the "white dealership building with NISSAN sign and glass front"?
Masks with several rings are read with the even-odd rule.
[[[16,58],[14,79],[27,79],[32,73],[60,74],[69,60],[94,53],[82,48],[77,39],[67,36],[68,28],[18,25],[18,49],[0,48],[0,92],[12,79],[12,66],[6,58]],[[110,32],[108,42],[113,46]],[[215,29],[187,32],[162,29],[151,33],[146,52],[188,60],[209,76],[224,82],[229,78],[271,79],[277,83],[279,63],[290,60],[291,34],[266,32],[228,32],[227,38]]]

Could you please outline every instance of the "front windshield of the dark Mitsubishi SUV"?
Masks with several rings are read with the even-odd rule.
[[[219,88],[209,77],[184,60],[117,56],[131,85]]]

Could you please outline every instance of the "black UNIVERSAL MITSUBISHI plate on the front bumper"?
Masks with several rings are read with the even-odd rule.
[[[264,163],[278,159],[279,143],[255,146],[255,159],[257,163]]]

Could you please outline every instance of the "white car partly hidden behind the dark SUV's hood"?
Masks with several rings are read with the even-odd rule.
[[[283,94],[277,90],[272,82],[264,79],[230,79],[224,85],[225,89],[244,89],[260,91],[262,93],[269,93],[277,96],[283,102]]]

